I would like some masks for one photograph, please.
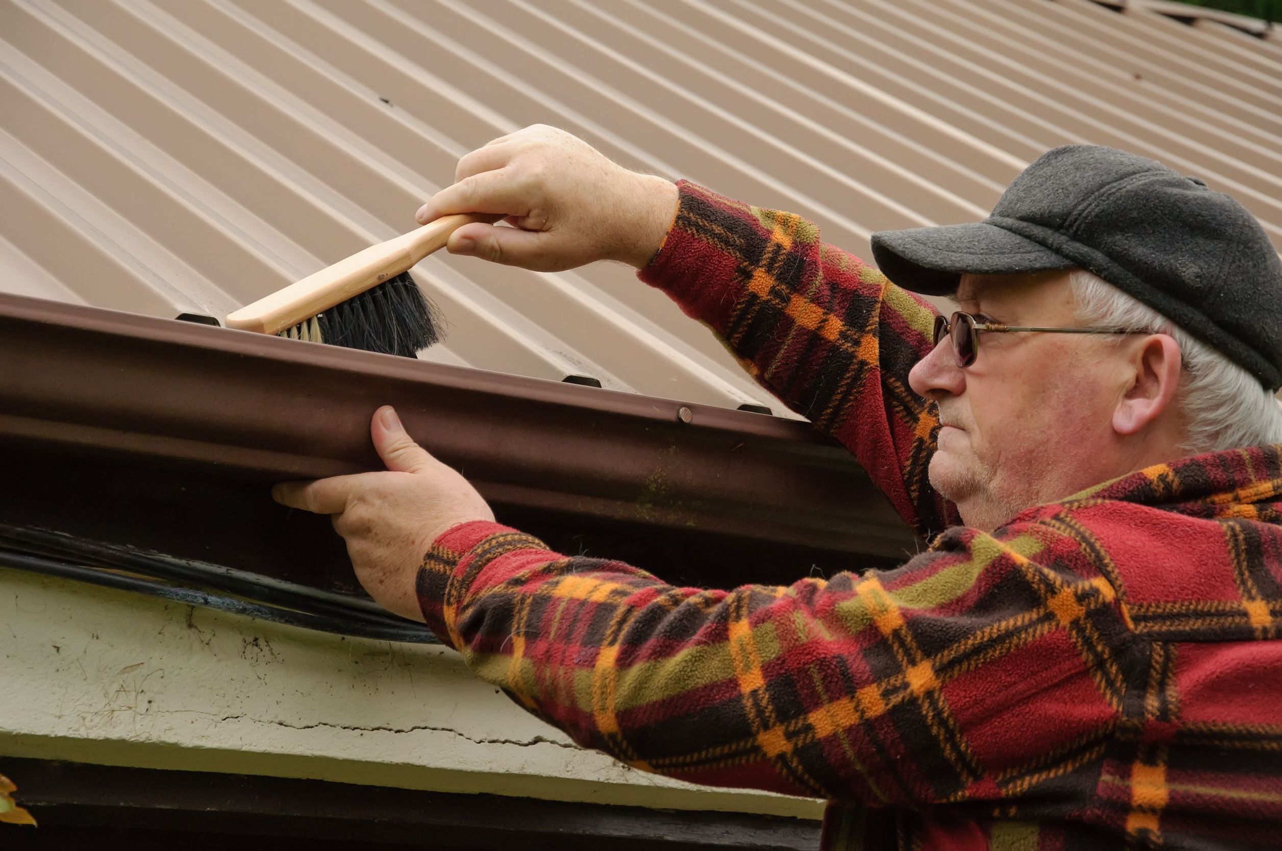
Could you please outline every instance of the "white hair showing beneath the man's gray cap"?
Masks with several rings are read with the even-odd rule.
[[[1282,406],[1254,376],[1099,276],[1073,269],[1068,281],[1086,324],[1174,338],[1183,361],[1177,399],[1188,419],[1185,451],[1282,443]]]

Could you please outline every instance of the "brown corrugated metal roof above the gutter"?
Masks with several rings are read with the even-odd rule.
[[[460,155],[537,122],[865,258],[1065,142],[1203,177],[1282,245],[1282,49],[1144,9],[4,0],[0,290],[222,317],[408,229]],[[428,359],[779,409],[627,268],[415,276],[451,323]]]

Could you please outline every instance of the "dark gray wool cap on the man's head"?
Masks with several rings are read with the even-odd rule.
[[[874,233],[887,278],[951,295],[964,272],[1083,268],[1282,386],[1282,261],[1241,204],[1113,147],[1042,154],[983,222]]]

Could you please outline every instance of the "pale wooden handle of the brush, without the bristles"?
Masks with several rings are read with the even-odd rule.
[[[495,217],[442,215],[401,236],[372,245],[331,267],[291,283],[251,305],[227,314],[227,327],[274,335],[359,296],[365,290],[395,278],[432,251],[445,246],[458,228]]]

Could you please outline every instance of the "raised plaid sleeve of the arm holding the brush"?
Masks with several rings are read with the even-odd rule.
[[[845,443],[923,537],[958,522],[926,477],[936,408],[908,386],[935,309],[824,244],[819,228],[678,183],[677,215],[640,277],[708,324],[747,372]]]

